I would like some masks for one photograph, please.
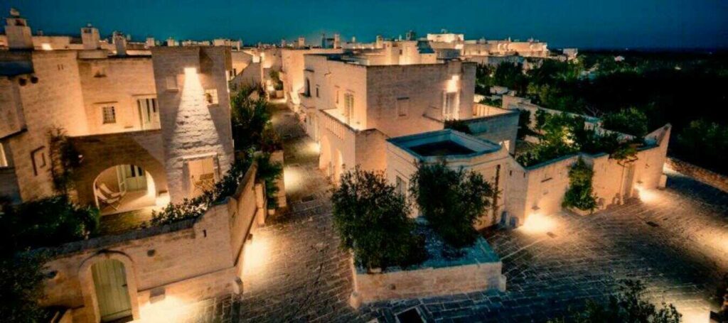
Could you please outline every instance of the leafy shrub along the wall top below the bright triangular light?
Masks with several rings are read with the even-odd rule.
[[[212,189],[207,190],[192,199],[183,199],[179,203],[170,203],[162,211],[151,213],[151,226],[162,226],[181,220],[199,218],[204,215],[213,204],[222,202],[232,196],[240,186],[245,172],[250,168],[249,159],[237,161],[221,180],[215,183]]]

